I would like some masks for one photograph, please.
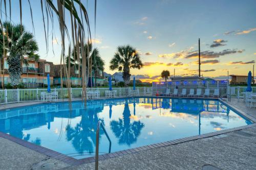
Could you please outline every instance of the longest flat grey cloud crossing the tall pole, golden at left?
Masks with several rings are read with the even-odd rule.
[[[220,56],[225,56],[228,54],[236,54],[236,53],[242,53],[245,50],[230,50],[230,49],[226,49],[223,50],[221,52],[212,52],[212,51],[203,51],[201,52],[200,56],[201,58],[219,58]],[[188,53],[187,56],[185,56],[186,59],[193,59],[193,58],[198,58],[198,52],[194,51],[194,52],[190,52]]]

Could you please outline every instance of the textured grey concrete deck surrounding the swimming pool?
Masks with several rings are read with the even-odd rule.
[[[27,103],[9,104],[8,107],[24,106],[23,104]],[[237,99],[231,99],[231,105],[253,119],[256,118],[255,108],[246,108]],[[94,162],[71,165],[3,137],[0,137],[0,151],[0,169],[42,169],[42,165],[51,165],[50,169],[94,168]],[[202,169],[204,165],[219,169],[256,169],[256,124],[217,136],[126,153],[99,161],[99,169]],[[207,169],[207,166],[203,169]]]

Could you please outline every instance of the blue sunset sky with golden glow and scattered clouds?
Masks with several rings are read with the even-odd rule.
[[[29,6],[27,1],[22,2],[23,24],[32,32]],[[51,42],[47,53],[40,1],[31,4],[40,58],[59,64],[57,19],[53,27],[54,54]],[[131,69],[131,74],[144,82],[159,80],[162,70],[174,75],[175,69],[176,76],[198,75],[199,38],[203,77],[226,79],[227,71],[229,75],[247,75],[256,61],[254,0],[98,0],[96,28],[94,1],[88,1],[87,9],[93,45],[99,48],[109,74],[117,71],[109,69],[117,46],[126,44],[134,46],[141,56],[144,67]],[[20,22],[18,3],[12,4],[12,21]]]

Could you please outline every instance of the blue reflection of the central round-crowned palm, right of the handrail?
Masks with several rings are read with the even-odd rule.
[[[135,115],[135,113],[134,113]],[[114,132],[115,136],[119,138],[119,144],[131,145],[137,141],[140,131],[144,127],[144,124],[139,121],[134,121],[131,123],[131,112],[129,109],[128,102],[125,101],[123,110],[123,119],[113,120],[110,123],[111,130]]]

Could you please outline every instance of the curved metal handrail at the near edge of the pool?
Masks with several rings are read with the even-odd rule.
[[[96,170],[98,170],[98,165],[99,165],[99,131],[100,131],[100,127],[104,131],[106,137],[109,139],[109,142],[110,142],[109,153],[111,152],[110,137],[109,137],[108,133],[106,133],[106,130],[105,130],[102,122],[99,120],[98,125],[97,125],[97,131],[96,131],[96,151],[95,151],[95,169]]]

